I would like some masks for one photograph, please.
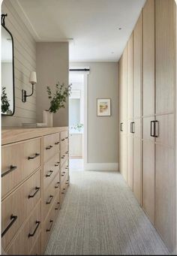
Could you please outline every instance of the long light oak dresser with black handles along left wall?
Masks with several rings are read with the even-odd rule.
[[[7,254],[45,251],[69,185],[68,153],[68,128],[2,131],[1,244]]]

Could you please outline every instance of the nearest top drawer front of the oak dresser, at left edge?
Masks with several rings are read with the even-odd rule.
[[[5,195],[40,167],[40,138],[2,146],[1,195]],[[7,170],[11,171],[7,173]],[[7,173],[7,174],[5,174]]]

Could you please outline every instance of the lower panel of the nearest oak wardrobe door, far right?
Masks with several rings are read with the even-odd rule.
[[[175,248],[174,149],[156,145],[155,227],[172,251]]]

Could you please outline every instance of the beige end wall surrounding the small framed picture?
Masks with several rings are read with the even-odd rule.
[[[88,78],[88,162],[118,163],[118,63],[75,62],[90,67]],[[111,116],[97,116],[97,98],[111,98]]]

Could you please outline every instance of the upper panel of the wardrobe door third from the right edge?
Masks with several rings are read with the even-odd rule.
[[[142,87],[142,14],[133,30],[133,117],[141,116]]]

